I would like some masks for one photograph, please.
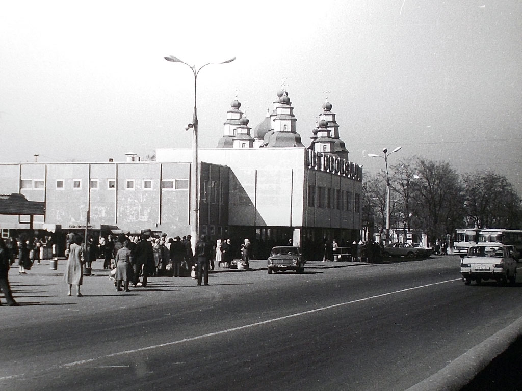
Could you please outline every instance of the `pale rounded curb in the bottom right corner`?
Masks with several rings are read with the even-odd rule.
[[[522,335],[522,317],[406,391],[459,391]]]

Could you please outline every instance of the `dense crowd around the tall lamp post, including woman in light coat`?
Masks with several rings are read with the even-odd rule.
[[[215,267],[232,267],[233,253],[230,239],[218,239],[211,242],[201,236],[196,242],[194,252],[191,245],[192,236],[168,237],[163,234],[156,237],[151,232],[140,236],[118,235],[115,239],[109,235],[99,242],[92,237],[82,247],[82,237],[69,234],[65,255],[67,265],[65,280],[69,285],[77,286],[77,296],[81,296],[80,285],[85,274],[83,265],[90,271],[92,263],[103,259],[103,268],[111,270],[110,278],[118,291],[129,291],[129,287],[147,287],[150,276],[181,277],[192,273],[197,284],[208,285],[208,274]],[[79,251],[77,246],[82,247]],[[251,243],[248,239],[241,245],[242,262],[246,269],[249,266]]]

